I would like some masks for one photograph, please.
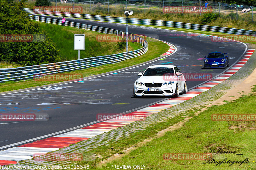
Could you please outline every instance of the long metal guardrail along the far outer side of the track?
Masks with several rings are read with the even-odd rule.
[[[126,23],[126,18],[123,18],[123,17],[110,17],[110,16],[69,13],[69,12],[56,12],[56,11],[38,11],[35,9],[29,9],[29,8],[23,8],[21,10],[26,11],[29,14],[38,14],[38,15],[43,14],[43,15],[61,16],[61,17],[65,16],[65,17],[71,17],[71,18],[82,18],[82,19],[89,19],[89,20]],[[230,34],[243,34],[243,35],[253,35],[253,36],[256,35],[256,31],[253,31],[253,30],[244,30],[244,29],[227,28],[227,27],[219,27],[219,26],[206,26],[206,25],[164,21],[164,20],[128,18],[128,23],[151,25],[151,26],[168,26],[168,27],[175,27],[175,28],[186,28],[186,29],[193,29],[193,30],[200,30],[200,31],[212,31],[212,32],[220,32],[220,33],[230,33]]]

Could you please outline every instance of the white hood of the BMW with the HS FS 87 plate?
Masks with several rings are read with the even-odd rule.
[[[164,83],[175,81],[175,76],[141,76],[136,81],[141,83]]]

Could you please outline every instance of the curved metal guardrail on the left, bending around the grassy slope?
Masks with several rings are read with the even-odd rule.
[[[61,20],[45,18],[45,17],[33,16],[31,19],[36,21],[46,22],[46,23],[58,24],[58,25],[62,24]],[[123,37],[125,36],[124,32],[119,30],[92,26],[92,25],[85,25],[85,24],[74,23],[74,22],[72,23],[69,21],[66,21],[66,26],[97,31],[99,33],[116,34],[117,36],[123,36]],[[148,51],[148,42],[146,40],[134,34],[128,34],[128,35],[129,35],[128,36],[129,40],[137,41],[138,43],[141,43],[143,47],[134,51],[113,54],[113,55],[104,55],[104,56],[90,57],[90,58],[84,58],[79,60],[17,67],[17,68],[11,68],[11,69],[0,69],[0,82],[13,81],[13,80],[14,81],[26,80],[26,79],[31,79],[36,75],[60,73],[60,72],[66,72],[66,71],[72,71],[72,70],[86,69],[89,67],[96,67],[104,64],[118,63],[123,60],[127,60],[130,58],[142,55]]]

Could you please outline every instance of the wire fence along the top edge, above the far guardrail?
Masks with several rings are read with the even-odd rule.
[[[33,2],[33,0],[29,0]],[[181,6],[185,8],[186,6],[192,7],[202,7],[205,8],[205,1],[202,0],[161,0],[161,1],[148,1],[148,0],[127,0],[127,1],[113,1],[113,0],[51,0],[52,5],[55,6],[82,6],[83,13],[93,13],[95,11],[120,11],[124,9],[137,9],[140,11],[163,11],[166,6]],[[214,13],[220,14],[230,14],[233,19],[250,19],[255,20],[256,18],[256,7],[255,6],[246,6],[239,4],[226,4],[221,2],[212,2],[207,1],[208,9],[211,8],[211,11]],[[183,11],[184,12],[184,11]],[[201,15],[199,12],[198,15]]]

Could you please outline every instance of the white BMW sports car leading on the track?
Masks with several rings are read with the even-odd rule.
[[[174,65],[149,66],[139,73],[134,83],[133,95],[138,96],[173,96],[187,93],[186,79],[180,69]]]

